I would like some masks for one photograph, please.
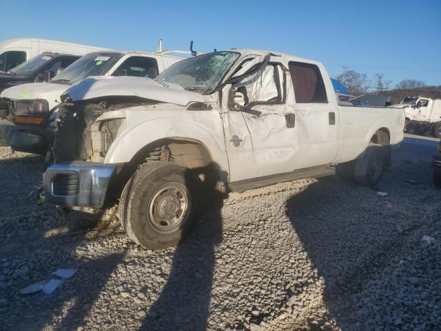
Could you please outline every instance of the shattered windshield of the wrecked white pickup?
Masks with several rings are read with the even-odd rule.
[[[205,94],[216,89],[240,54],[214,52],[174,63],[156,77],[156,81],[176,83],[185,90]]]

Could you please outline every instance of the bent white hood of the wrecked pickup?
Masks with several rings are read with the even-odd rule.
[[[65,94],[72,101],[99,97],[140,97],[186,106],[190,102],[203,102],[202,94],[184,90],[175,83],[155,81],[143,77],[88,77],[75,83]]]

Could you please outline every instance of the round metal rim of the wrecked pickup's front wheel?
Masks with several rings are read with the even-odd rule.
[[[181,183],[167,183],[153,194],[148,205],[149,220],[158,232],[173,232],[188,219],[191,198]]]

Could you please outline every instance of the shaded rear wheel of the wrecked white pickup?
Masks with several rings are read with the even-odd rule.
[[[354,163],[354,179],[357,183],[372,187],[382,178],[386,166],[386,148],[369,143],[365,154]]]

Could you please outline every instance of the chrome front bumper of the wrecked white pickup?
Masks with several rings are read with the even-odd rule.
[[[101,208],[115,164],[70,162],[52,165],[43,174],[45,201],[67,207]]]

